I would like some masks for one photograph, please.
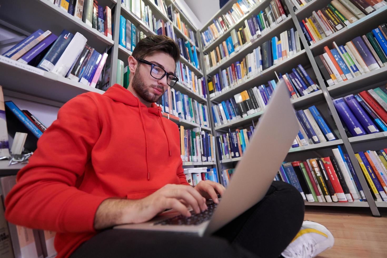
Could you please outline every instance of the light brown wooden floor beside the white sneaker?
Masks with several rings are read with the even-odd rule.
[[[382,217],[372,217],[366,208],[307,207],[305,220],[323,224],[335,237],[332,249],[319,258],[386,258],[387,210]]]

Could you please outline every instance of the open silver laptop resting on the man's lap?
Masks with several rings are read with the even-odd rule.
[[[298,130],[288,89],[281,80],[219,204],[209,203],[208,210],[192,212],[189,218],[169,210],[145,223],[114,228],[210,235],[262,200]]]

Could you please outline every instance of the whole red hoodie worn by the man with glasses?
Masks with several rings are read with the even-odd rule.
[[[11,223],[56,231],[57,257],[97,232],[106,198],[144,198],[166,184],[188,185],[178,127],[118,84],[71,99],[38,141],[5,199]]]

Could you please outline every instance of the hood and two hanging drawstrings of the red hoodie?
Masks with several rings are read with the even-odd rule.
[[[144,116],[142,112],[146,112],[146,109],[149,113],[155,114],[160,118],[161,125],[163,126],[164,134],[168,142],[168,153],[170,156],[172,156],[171,152],[171,145],[170,145],[170,140],[168,139],[168,134],[165,131],[165,125],[164,125],[164,119],[162,118],[163,114],[161,113],[161,108],[157,106],[155,103],[152,103],[152,106],[148,108],[145,106],[141,101],[139,100],[138,97],[135,97],[132,92],[128,91],[124,87],[122,87],[119,84],[114,84],[111,86],[104,94],[104,96],[109,97],[110,99],[121,102],[125,105],[128,106],[135,106],[139,109],[140,113],[140,119],[142,123],[142,130],[144,131],[145,135],[145,153],[146,153],[146,164],[147,164],[147,179],[150,179],[150,172],[149,172],[149,166],[148,166],[148,141],[147,141],[147,132],[145,130],[145,121],[144,121]]]

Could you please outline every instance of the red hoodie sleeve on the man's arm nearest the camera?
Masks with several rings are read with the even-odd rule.
[[[68,101],[38,140],[29,164],[5,199],[11,223],[57,232],[93,231],[94,215],[106,197],[78,190],[101,132],[98,108],[89,96]]]

